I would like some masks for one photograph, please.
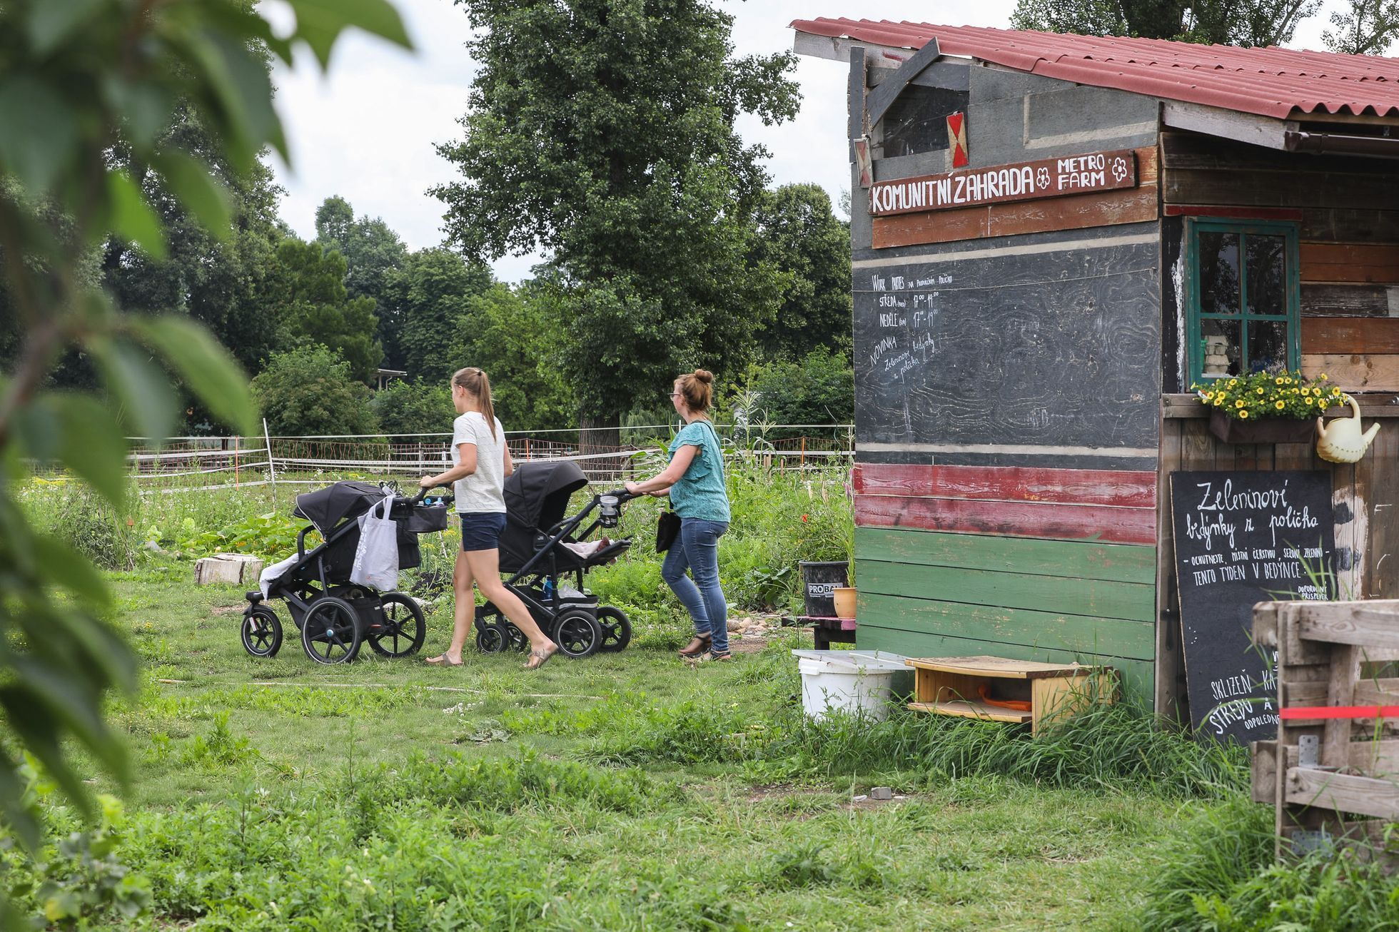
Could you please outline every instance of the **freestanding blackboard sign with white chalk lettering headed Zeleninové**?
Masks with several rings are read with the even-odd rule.
[[[1185,679],[1196,733],[1277,736],[1277,652],[1254,645],[1254,605],[1330,598],[1330,473],[1171,474]]]

